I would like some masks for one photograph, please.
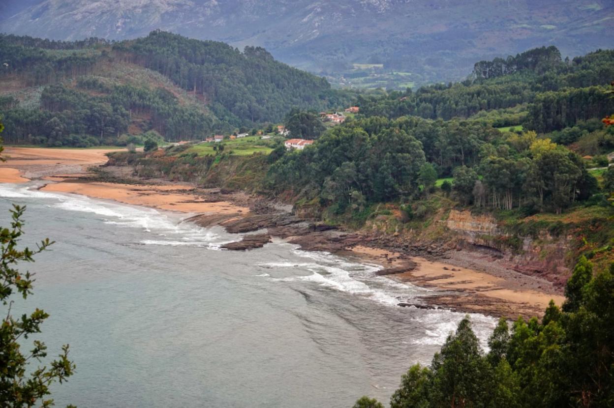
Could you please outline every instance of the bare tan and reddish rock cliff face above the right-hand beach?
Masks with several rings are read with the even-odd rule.
[[[469,210],[451,210],[445,225],[453,232],[457,248],[489,253],[510,269],[540,275],[562,286],[570,274],[573,239],[540,231],[523,237],[506,231],[490,214],[472,215]]]

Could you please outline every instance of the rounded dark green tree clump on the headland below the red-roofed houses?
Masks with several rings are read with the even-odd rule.
[[[352,201],[387,201],[411,194],[425,162],[422,144],[384,118],[337,126],[313,148],[287,153],[271,166],[273,191],[321,198],[343,212]]]

